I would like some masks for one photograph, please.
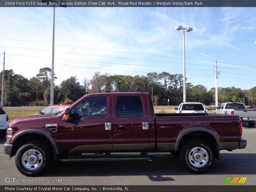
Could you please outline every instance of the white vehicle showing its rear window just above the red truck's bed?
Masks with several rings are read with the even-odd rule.
[[[179,108],[174,108],[176,113],[206,113],[203,103],[199,102],[183,102]]]

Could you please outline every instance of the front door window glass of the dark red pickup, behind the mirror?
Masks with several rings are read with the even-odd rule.
[[[107,97],[86,98],[71,109],[71,117],[74,117],[74,113],[79,115],[79,119],[107,117]]]

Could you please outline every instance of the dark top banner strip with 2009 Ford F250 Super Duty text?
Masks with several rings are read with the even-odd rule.
[[[256,0],[0,0],[0,7],[256,7]]]

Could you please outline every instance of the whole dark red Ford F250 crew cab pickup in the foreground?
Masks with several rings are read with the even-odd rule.
[[[13,120],[4,152],[16,155],[27,176],[41,174],[52,160],[152,160],[148,153],[162,152],[179,154],[185,168],[201,173],[220,150],[245,148],[241,135],[238,116],[155,114],[148,93],[96,93],[59,114]]]

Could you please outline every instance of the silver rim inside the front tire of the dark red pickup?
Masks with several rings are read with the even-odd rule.
[[[21,158],[22,165],[28,170],[36,170],[43,164],[43,156],[36,149],[28,149]]]

